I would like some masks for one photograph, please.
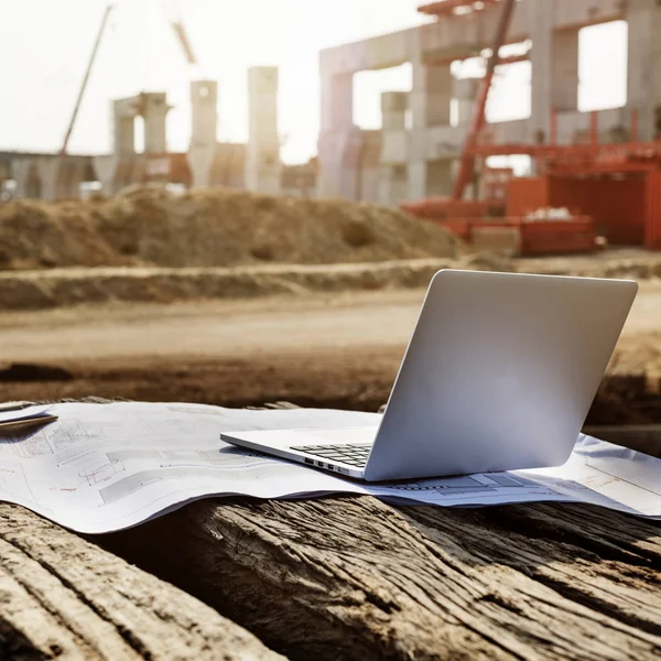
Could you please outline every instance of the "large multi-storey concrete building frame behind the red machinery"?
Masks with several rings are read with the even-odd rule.
[[[442,2],[433,3],[436,7]],[[429,6],[427,11],[434,8]],[[447,195],[466,138],[479,80],[456,79],[452,63],[489,47],[499,18],[498,4],[479,11],[442,13],[411,30],[327,48],[321,53],[321,133],[318,194],[369,199],[360,186],[362,162],[372,131],[354,124],[354,75],[410,63],[409,94],[381,99],[378,198],[384,204]],[[524,58],[532,68],[531,116],[492,123],[483,138],[494,142],[534,143],[549,139],[552,109],[557,111],[557,141],[577,142],[589,129],[578,105],[578,32],[587,25],[628,23],[627,106],[599,113],[602,140],[627,139],[631,109],[639,113],[639,138],[661,130],[661,6],[657,0],[519,0],[508,43],[531,43]],[[452,106],[455,111],[453,117]]]

